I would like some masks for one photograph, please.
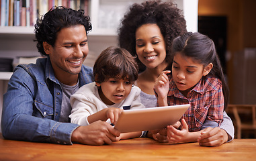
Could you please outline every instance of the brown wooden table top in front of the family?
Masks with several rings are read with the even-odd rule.
[[[219,147],[198,143],[159,144],[148,138],[112,145],[73,146],[4,140],[0,136],[0,160],[256,160],[256,139],[233,140]]]

